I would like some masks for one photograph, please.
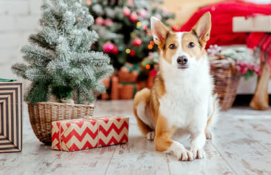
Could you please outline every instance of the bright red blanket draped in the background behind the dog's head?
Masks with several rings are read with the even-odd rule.
[[[263,5],[248,3],[243,1],[223,1],[200,8],[192,17],[180,28],[180,31],[189,31],[196,24],[198,19],[205,13],[212,14],[212,31],[209,45],[231,45],[245,44],[246,32],[232,32],[233,17],[247,17],[252,14],[271,14],[271,4]]]

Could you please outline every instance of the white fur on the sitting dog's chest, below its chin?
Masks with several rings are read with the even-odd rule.
[[[159,99],[160,113],[167,118],[170,126],[193,130],[207,122],[208,101],[212,92],[208,64],[197,71],[169,68],[162,72],[166,93]]]

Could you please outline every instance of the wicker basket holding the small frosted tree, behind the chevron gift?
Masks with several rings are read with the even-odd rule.
[[[32,129],[45,144],[51,143],[51,123],[69,119],[92,116],[95,105],[77,105],[67,103],[39,102],[28,103],[28,114]]]

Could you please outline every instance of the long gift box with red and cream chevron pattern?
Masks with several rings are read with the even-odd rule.
[[[52,123],[52,149],[85,150],[128,142],[129,118],[91,117]]]

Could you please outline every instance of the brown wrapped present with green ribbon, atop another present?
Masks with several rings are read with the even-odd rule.
[[[140,73],[141,70],[138,63],[137,64],[125,63],[118,72],[120,83],[122,82],[136,83]]]

